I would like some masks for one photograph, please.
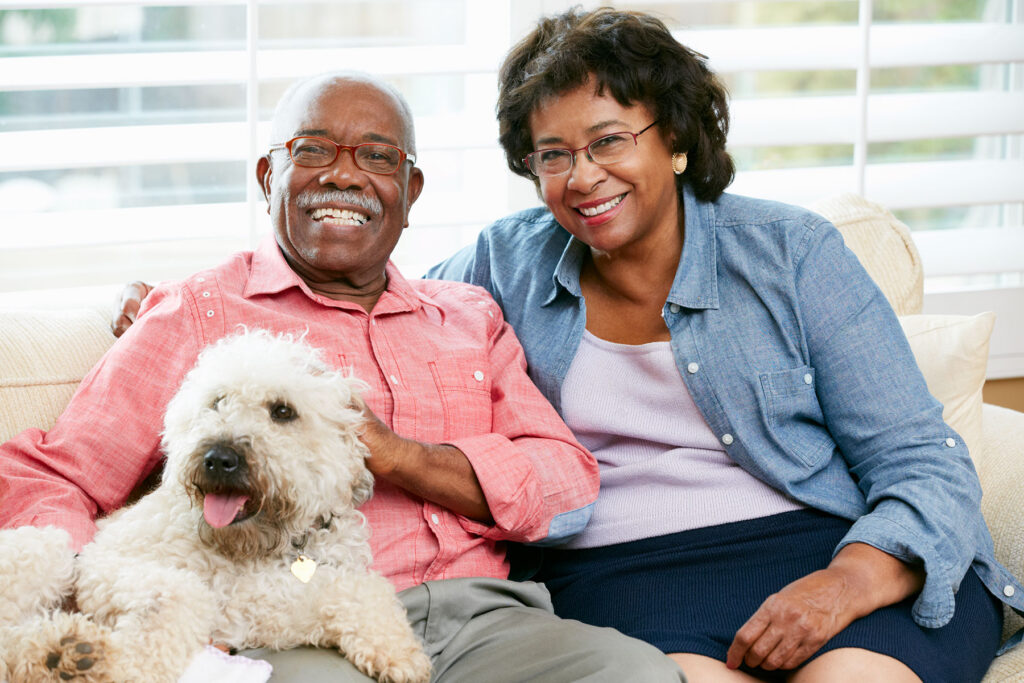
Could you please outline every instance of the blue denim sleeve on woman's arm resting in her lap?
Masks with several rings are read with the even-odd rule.
[[[830,223],[809,230],[797,284],[825,423],[869,509],[840,548],[866,543],[923,565],[914,618],[943,626],[984,523],[968,450],[943,422],[896,314]]]

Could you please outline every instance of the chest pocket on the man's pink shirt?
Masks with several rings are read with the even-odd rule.
[[[490,366],[479,353],[449,351],[429,362],[443,414],[444,439],[492,430]]]

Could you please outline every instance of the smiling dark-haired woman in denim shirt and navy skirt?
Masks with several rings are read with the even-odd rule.
[[[964,441],[836,228],[723,194],[705,57],[651,16],[571,10],[500,80],[546,207],[430,274],[494,294],[601,464],[589,526],[545,552],[556,611],[691,680],[980,680],[1004,587],[1024,605]]]

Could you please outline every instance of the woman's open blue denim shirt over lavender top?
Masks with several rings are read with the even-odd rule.
[[[993,557],[967,447],[839,230],[807,210],[735,195],[705,203],[687,187],[683,204],[683,253],[662,314],[680,376],[729,456],[854,521],[837,551],[861,542],[922,564],[918,624],[949,622],[972,565],[1024,609],[1024,588]],[[587,319],[587,249],[539,208],[495,222],[428,273],[490,291],[558,409]]]

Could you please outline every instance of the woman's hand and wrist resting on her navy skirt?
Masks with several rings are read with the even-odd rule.
[[[726,666],[796,669],[854,620],[899,602],[924,571],[871,546],[845,546],[831,563],[771,595],[736,632]]]

